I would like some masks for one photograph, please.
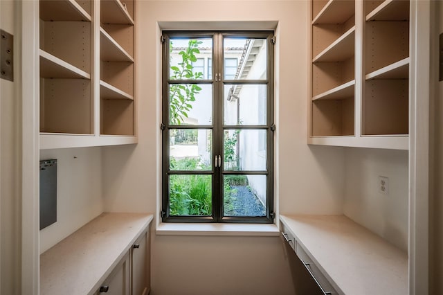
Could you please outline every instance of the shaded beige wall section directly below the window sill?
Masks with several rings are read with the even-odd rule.
[[[157,235],[152,295],[294,294],[277,237]]]

